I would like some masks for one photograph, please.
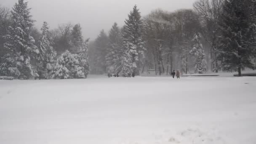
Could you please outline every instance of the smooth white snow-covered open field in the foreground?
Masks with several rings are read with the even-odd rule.
[[[256,77],[0,80],[0,144],[256,144]]]

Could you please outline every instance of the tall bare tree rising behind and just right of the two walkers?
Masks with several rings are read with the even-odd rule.
[[[179,10],[173,13],[174,15],[174,47],[178,58],[178,67],[181,67],[182,72],[189,71],[189,51],[191,49],[192,40],[195,33],[200,31],[200,22],[197,13],[191,9]],[[176,61],[177,61],[176,58]],[[180,65],[180,66],[179,66]],[[177,66],[176,66],[177,67]]]

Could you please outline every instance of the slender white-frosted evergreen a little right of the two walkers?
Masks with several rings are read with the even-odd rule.
[[[200,34],[195,34],[193,38],[192,50],[189,52],[195,56],[195,68],[196,72],[202,74],[206,72],[206,60],[203,45],[200,41]]]

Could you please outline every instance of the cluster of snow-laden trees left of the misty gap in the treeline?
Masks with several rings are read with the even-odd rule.
[[[88,40],[79,24],[39,32],[28,3],[19,0],[12,10],[0,7],[0,76],[18,79],[86,78]]]

